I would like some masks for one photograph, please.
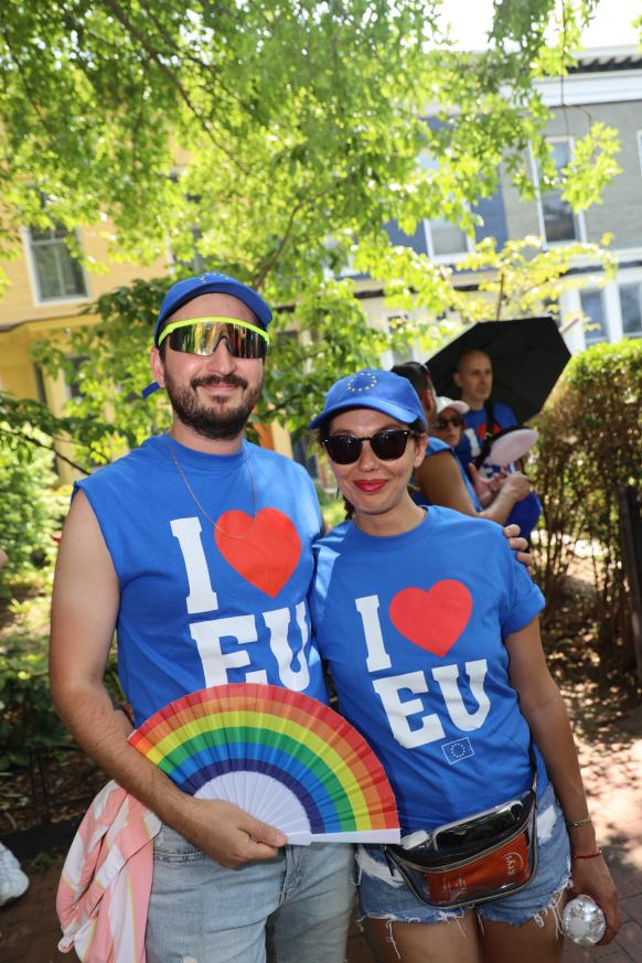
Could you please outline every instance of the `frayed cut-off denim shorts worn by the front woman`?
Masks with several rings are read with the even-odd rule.
[[[359,918],[439,923],[477,909],[482,919],[522,925],[554,906],[570,878],[570,846],[564,814],[550,783],[537,800],[537,869],[523,889],[477,907],[443,910],[421,902],[397,874],[393,876],[381,846],[357,849]]]

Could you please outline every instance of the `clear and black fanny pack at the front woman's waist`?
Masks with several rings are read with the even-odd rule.
[[[526,886],[537,868],[536,777],[513,799],[421,836],[418,845],[383,847],[390,873],[436,909],[486,902]],[[413,836],[408,837],[408,842]]]

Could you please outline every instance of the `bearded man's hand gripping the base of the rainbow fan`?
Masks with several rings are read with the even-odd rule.
[[[175,828],[193,846],[228,869],[257,859],[274,859],[287,837],[222,800],[185,800],[185,820]]]

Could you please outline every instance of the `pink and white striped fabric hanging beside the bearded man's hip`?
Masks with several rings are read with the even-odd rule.
[[[83,963],[145,963],[145,930],[160,820],[117,782],[100,790],[65,859],[56,911]]]

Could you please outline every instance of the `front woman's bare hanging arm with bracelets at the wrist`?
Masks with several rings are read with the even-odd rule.
[[[506,649],[511,684],[520,696],[520,708],[546,762],[564,817],[567,822],[584,820],[588,805],[577,751],[564,699],[546,665],[538,619],[509,635]],[[574,855],[599,852],[592,824],[570,828],[569,834]],[[574,859],[573,890],[592,896],[601,907],[607,931],[600,945],[610,943],[618,932],[620,914],[616,887],[601,856]]]

